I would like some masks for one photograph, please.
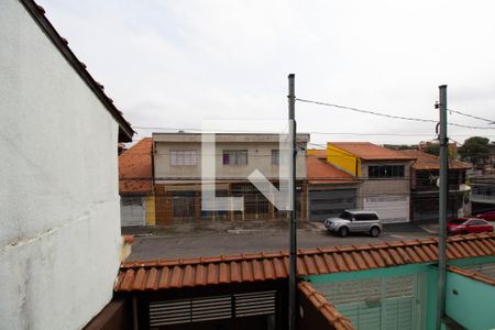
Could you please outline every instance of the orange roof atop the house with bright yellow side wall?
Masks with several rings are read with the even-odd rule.
[[[340,147],[364,161],[411,161],[415,157],[405,155],[394,150],[389,150],[370,142],[329,142],[333,146]]]

